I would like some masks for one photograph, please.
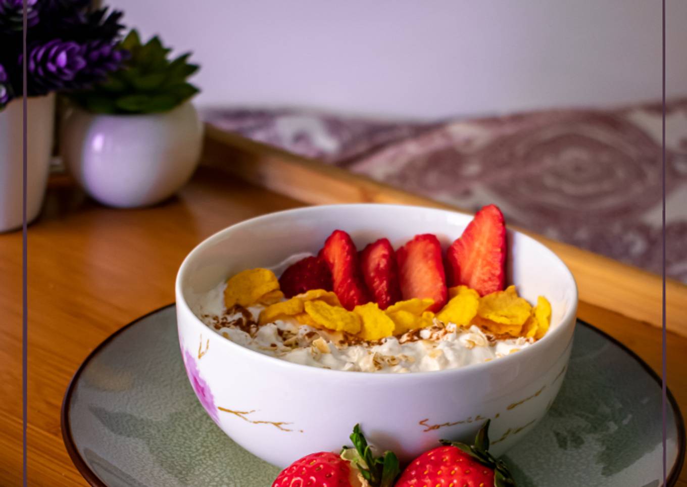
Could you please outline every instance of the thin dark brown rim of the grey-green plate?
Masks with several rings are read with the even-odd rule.
[[[125,330],[128,330],[128,328],[131,328],[135,324],[137,324],[139,321],[143,321],[147,317],[151,315],[155,315],[163,310],[166,310],[168,308],[172,308],[176,306],[176,302],[173,302],[171,304],[166,304],[165,306],[161,306],[159,308],[156,308],[155,310],[152,310],[145,315],[139,316],[133,321],[130,321],[128,324],[122,326],[122,328],[119,328],[118,330],[115,330],[111,335],[106,337],[103,341],[101,341],[98,346],[93,348],[91,352],[86,356],[85,359],[81,362],[79,367],[76,369],[76,372],[74,372],[74,375],[71,377],[69,380],[69,385],[67,385],[67,389],[65,391],[65,396],[62,400],[62,406],[60,407],[60,431],[62,432],[62,439],[65,444],[65,449],[67,449],[67,454],[69,455],[69,458],[71,458],[71,462],[74,463],[74,466],[76,467],[76,470],[84,477],[86,482],[88,482],[92,487],[109,487],[107,484],[104,484],[102,480],[98,477],[98,475],[91,470],[91,467],[87,464],[87,462],[83,459],[83,457],[80,455],[78,448],[76,446],[76,442],[74,442],[74,438],[71,435],[71,422],[69,420],[69,406],[71,405],[71,396],[74,393],[74,389],[76,387],[76,383],[78,382],[81,374],[84,372],[86,369],[87,365],[93,360],[93,358],[100,353],[102,349],[104,349],[113,339],[118,337],[119,335],[122,334]],[[618,341],[618,339],[611,337],[607,332],[600,330],[599,328],[596,328],[596,326],[590,324],[589,322],[576,318],[577,324],[581,324],[590,330],[598,333],[598,335],[601,335],[608,341],[611,341],[611,343],[615,344],[616,346],[620,347],[624,352],[626,352],[629,356],[631,356],[632,359],[634,359],[637,363],[639,363],[642,368],[644,369],[644,372],[649,374],[651,378],[659,385],[662,386],[662,381],[661,377],[651,368],[651,366],[642,359],[638,354],[633,352],[630,348],[624,345],[624,343]],[[671,392],[671,389],[666,387],[666,396],[668,398],[668,403],[670,403],[671,407],[673,408],[673,411],[675,411],[675,426],[677,427],[677,460],[675,462],[675,465],[673,465],[673,468],[671,468],[670,473],[668,474],[668,477],[666,479],[666,487],[673,487],[677,483],[677,480],[679,478],[679,474],[682,471],[682,468],[684,466],[685,462],[685,453],[687,449],[687,438],[686,438],[686,433],[685,433],[685,424],[684,424],[684,418],[682,416],[682,411],[680,411],[679,405],[677,404],[677,400],[675,400],[675,396],[673,396],[673,393]]]

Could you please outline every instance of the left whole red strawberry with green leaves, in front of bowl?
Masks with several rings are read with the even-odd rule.
[[[399,471],[396,455],[375,457],[358,424],[350,439],[354,448],[344,447],[340,455],[321,451],[296,460],[272,487],[392,487]]]

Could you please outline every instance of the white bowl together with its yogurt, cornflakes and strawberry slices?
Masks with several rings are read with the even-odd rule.
[[[337,451],[354,424],[407,460],[491,420],[504,453],[558,393],[577,307],[565,264],[493,205],[253,218],[191,251],[176,297],[201,405],[282,467]]]

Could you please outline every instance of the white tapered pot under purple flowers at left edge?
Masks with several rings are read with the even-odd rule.
[[[55,95],[27,98],[26,219],[41,212],[55,130]],[[23,109],[12,100],[0,111],[0,231],[23,223]]]

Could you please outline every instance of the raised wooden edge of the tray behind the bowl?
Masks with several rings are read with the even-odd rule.
[[[402,203],[460,211],[341,168],[219,131],[210,125],[207,126],[203,160],[207,165],[310,204]],[[536,238],[565,261],[577,281],[580,299],[661,326],[660,276],[514,228]],[[666,287],[668,330],[687,337],[687,286],[668,280]]]

